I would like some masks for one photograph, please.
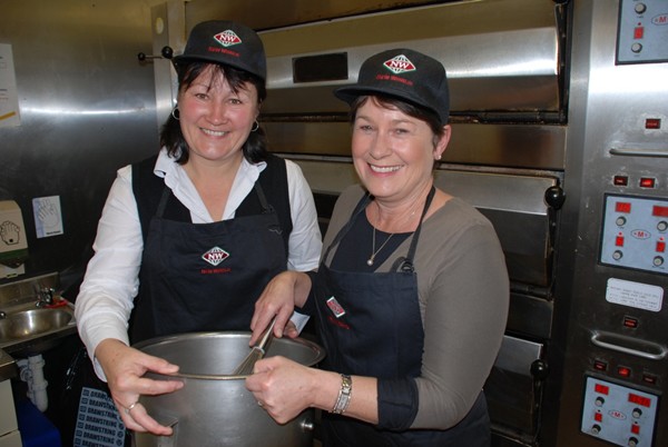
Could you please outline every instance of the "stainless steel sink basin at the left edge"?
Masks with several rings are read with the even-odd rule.
[[[30,302],[4,308],[2,312],[0,349],[14,356],[41,354],[77,330],[70,304],[49,308]]]

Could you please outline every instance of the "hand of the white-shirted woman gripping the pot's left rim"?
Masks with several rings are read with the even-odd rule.
[[[178,371],[178,366],[111,338],[100,341],[95,356],[107,376],[111,398],[126,427],[154,435],[171,435],[171,427],[158,424],[138,400],[141,395],[155,396],[183,388],[184,383],[179,380],[153,380],[143,377],[147,371],[173,375]]]

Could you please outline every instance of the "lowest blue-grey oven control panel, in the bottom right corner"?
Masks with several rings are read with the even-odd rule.
[[[580,430],[617,446],[650,447],[659,398],[587,377]]]

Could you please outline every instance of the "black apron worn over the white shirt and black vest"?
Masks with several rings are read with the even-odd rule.
[[[191,224],[163,217],[171,195],[165,187],[144,247],[132,344],[188,331],[248,330],[256,299],[287,262],[278,217],[258,182],[255,192],[262,213]]]

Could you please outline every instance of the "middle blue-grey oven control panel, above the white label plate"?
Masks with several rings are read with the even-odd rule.
[[[668,199],[606,196],[600,262],[668,275]]]

